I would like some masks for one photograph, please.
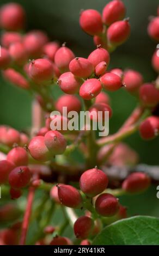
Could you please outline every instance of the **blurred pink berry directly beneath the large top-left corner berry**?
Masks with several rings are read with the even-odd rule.
[[[17,32],[5,32],[1,36],[1,44],[2,46],[8,48],[11,44],[15,44],[15,42],[22,42],[22,36]]]

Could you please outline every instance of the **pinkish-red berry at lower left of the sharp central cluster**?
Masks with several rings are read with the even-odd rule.
[[[75,94],[78,92],[82,80],[75,77],[71,72],[65,72],[58,79],[60,89],[66,94]]]

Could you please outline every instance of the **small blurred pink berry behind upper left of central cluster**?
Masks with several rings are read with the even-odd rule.
[[[58,48],[59,48],[58,42],[48,42],[46,45],[44,45],[43,52],[48,59],[54,62],[54,56]]]

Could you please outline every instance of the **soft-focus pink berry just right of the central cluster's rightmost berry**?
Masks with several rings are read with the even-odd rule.
[[[123,84],[128,92],[137,92],[139,87],[143,84],[143,76],[135,70],[126,70],[124,72]]]

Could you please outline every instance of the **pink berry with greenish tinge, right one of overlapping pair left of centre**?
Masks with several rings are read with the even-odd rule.
[[[66,139],[58,131],[48,131],[44,136],[44,143],[53,155],[62,155],[66,150]]]

